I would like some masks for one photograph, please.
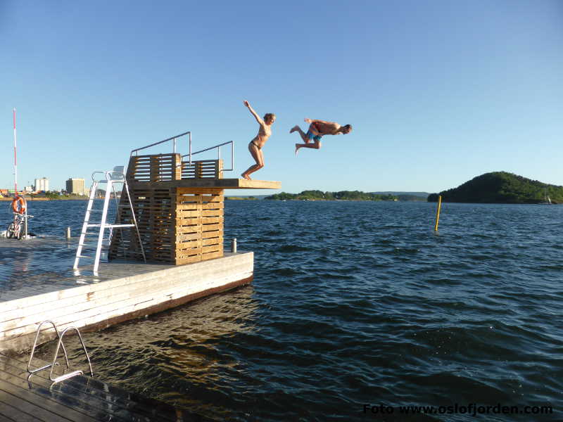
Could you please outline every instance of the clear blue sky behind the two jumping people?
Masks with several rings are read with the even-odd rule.
[[[438,192],[500,170],[563,185],[560,0],[1,0],[0,46],[0,187],[13,108],[19,186],[89,184],[186,131],[195,149],[234,141],[238,177],[258,129],[244,99],[277,114],[253,178],[286,192]],[[304,117],[354,129],[296,157]]]

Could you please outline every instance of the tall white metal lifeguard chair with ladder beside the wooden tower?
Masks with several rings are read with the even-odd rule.
[[[96,180],[94,177],[95,174],[104,174],[105,179]],[[96,196],[96,191],[98,190],[98,185],[101,183],[106,183],[106,196],[103,199],[103,210],[94,210],[94,198]],[[119,205],[118,198],[115,193],[115,184],[123,184],[123,189],[121,194],[125,192],[127,195],[127,202],[129,205]],[[110,196],[113,192],[113,197],[115,198],[115,203],[117,207],[129,207],[131,210],[132,215],[132,224],[119,224],[116,222],[115,224],[106,224],[106,219],[108,217],[108,206],[110,203]],[[91,212],[101,212],[101,219],[99,224],[90,224],[90,214]],[[120,213],[118,210],[116,219],[120,218]],[[82,248],[86,245],[85,240],[88,234],[96,234],[95,231],[88,231],[90,228],[98,228],[98,243],[96,247],[96,257],[94,258],[94,275],[98,275],[98,267],[100,263],[100,255],[101,255],[101,247],[103,243],[103,235],[106,229],[110,229],[110,233],[108,235],[108,243],[111,239],[113,229],[132,229],[134,228],[137,232],[137,238],[139,239],[139,246],[141,248],[141,254],[143,255],[143,260],[146,262],[145,251],[143,248],[143,243],[141,242],[141,235],[139,234],[139,227],[137,226],[137,219],[135,218],[135,212],[133,210],[133,204],[131,202],[131,196],[129,196],[129,188],[127,187],[127,180],[125,179],[125,174],[123,174],[123,166],[116,166],[113,167],[113,170],[108,170],[107,172],[94,172],[92,173],[92,186],[90,188],[90,197],[88,200],[88,205],[86,208],[86,214],[84,215],[84,224],[82,224],[82,231],[80,232],[80,240],[78,241],[78,248],[76,250],[76,257],[75,257],[75,264],[72,267],[73,269],[78,269],[78,262],[80,258],[89,258],[87,255],[82,255]]]

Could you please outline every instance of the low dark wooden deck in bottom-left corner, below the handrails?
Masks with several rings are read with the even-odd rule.
[[[208,421],[88,376],[75,376],[50,389],[49,371],[28,382],[26,366],[21,358],[0,354],[0,422]]]

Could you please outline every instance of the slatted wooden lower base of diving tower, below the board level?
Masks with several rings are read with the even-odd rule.
[[[186,264],[223,256],[224,195],[216,188],[129,188],[146,260]],[[120,217],[131,221],[127,199]],[[109,259],[142,260],[134,229],[116,230]]]

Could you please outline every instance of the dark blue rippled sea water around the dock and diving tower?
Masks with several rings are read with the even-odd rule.
[[[84,212],[32,207],[44,234]],[[435,212],[227,201],[253,284],[87,333],[96,376],[217,421],[563,421],[563,206]]]

